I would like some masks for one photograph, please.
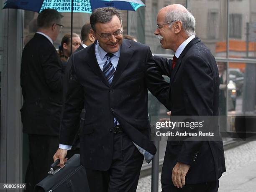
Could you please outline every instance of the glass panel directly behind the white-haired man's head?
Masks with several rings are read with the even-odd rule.
[[[188,0],[187,8],[196,18],[196,35],[216,57],[226,57],[227,1]]]

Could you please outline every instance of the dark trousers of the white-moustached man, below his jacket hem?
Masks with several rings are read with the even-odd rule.
[[[172,180],[172,179],[171,179]],[[162,192],[218,192],[219,180],[200,184],[185,184],[182,188],[162,184]]]

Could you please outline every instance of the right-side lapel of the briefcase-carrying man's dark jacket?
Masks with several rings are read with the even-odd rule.
[[[131,44],[128,41],[123,40],[123,43],[120,48],[121,49],[120,58],[118,61],[117,68],[115,70],[111,87],[115,85],[116,81],[121,76],[121,74],[123,73],[123,70],[125,70],[126,66],[131,60],[131,57],[133,56],[133,50],[130,47],[131,47]]]

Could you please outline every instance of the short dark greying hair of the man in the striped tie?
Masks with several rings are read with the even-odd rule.
[[[93,10],[92,15],[90,17],[90,23],[92,30],[96,31],[95,24],[96,23],[108,23],[112,20],[113,16],[116,15],[120,20],[122,25],[122,16],[121,12],[113,7],[105,7],[105,8],[97,8]]]

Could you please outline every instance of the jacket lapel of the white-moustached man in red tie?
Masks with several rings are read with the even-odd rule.
[[[190,41],[187,46],[184,48],[184,50],[182,51],[182,53],[180,54],[177,62],[176,62],[176,66],[174,67],[174,69],[172,70],[171,76],[170,76],[170,86],[172,85],[172,82],[174,80],[174,77],[177,73],[177,71],[179,70],[179,67],[182,63],[182,58],[186,55],[187,51],[189,51],[189,49],[192,47],[192,45],[194,45],[195,43],[200,42],[200,39],[198,37],[195,37],[194,39],[192,39],[192,41]]]

